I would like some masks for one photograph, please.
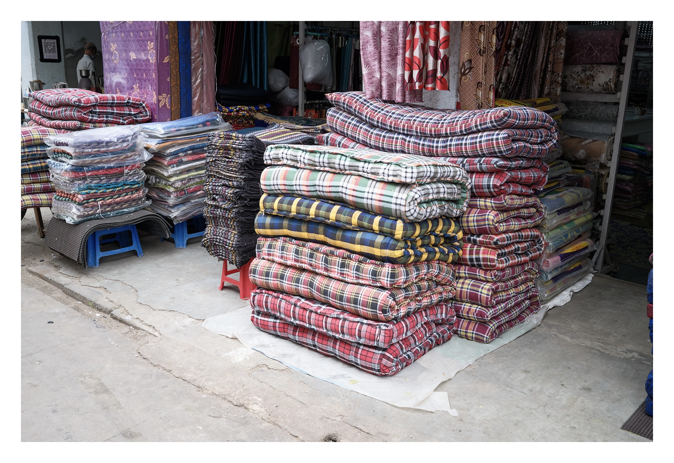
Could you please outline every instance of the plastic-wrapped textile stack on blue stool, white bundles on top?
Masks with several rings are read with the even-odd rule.
[[[152,157],[137,125],[88,129],[44,138],[56,193],[52,212],[69,224],[142,209],[143,163]]]

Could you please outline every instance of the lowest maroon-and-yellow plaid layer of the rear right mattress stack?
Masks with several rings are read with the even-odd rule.
[[[487,322],[456,317],[456,334],[472,341],[491,342],[510,328],[522,323],[529,315],[537,313],[540,308],[537,296],[534,300],[522,301],[518,307],[513,307]]]

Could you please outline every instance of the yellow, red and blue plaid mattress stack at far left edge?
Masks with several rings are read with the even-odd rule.
[[[21,210],[51,207],[54,184],[49,181],[44,137],[57,133],[44,127],[21,129]]]

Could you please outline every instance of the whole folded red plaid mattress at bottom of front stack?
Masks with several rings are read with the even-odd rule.
[[[434,346],[450,340],[456,322],[451,305],[446,304],[413,313],[397,323],[376,323],[264,289],[253,290],[250,303],[251,321],[260,330],[381,376],[395,375]]]

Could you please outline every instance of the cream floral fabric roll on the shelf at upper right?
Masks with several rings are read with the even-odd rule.
[[[622,82],[619,80],[622,72],[621,65],[565,65],[561,90],[563,92],[615,94],[622,88]]]

